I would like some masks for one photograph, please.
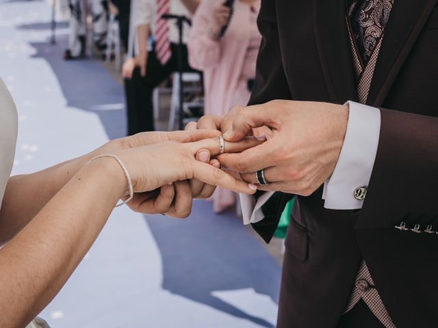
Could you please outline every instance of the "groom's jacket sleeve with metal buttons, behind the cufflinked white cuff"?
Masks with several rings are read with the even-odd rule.
[[[437,223],[437,185],[438,118],[381,109],[376,160],[357,228]]]

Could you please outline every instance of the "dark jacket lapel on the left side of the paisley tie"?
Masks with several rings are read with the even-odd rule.
[[[331,102],[357,100],[346,24],[346,0],[313,0],[313,27]]]

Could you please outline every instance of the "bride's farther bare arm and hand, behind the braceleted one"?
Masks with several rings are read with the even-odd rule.
[[[16,233],[23,229],[42,207],[83,167],[88,159],[91,159],[96,154],[148,146],[169,140],[181,142],[198,141],[214,137],[216,134],[214,131],[199,131],[197,134],[182,133],[181,131],[172,133],[139,133],[131,137],[112,140],[89,154],[49,167],[40,172],[13,176],[6,187],[3,204],[0,209],[0,245],[9,241]],[[171,188],[168,187],[168,189]],[[162,194],[157,205],[169,202],[172,204],[172,200],[166,201],[166,195]],[[162,209],[163,206],[160,206],[160,208],[149,206],[147,208],[150,213],[156,213],[157,210]],[[178,216],[178,213],[176,214]]]

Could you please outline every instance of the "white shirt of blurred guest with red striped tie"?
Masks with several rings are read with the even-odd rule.
[[[132,49],[134,53],[137,53],[138,46],[135,42],[135,34],[138,25],[148,24],[151,28],[151,35],[155,32],[155,14],[157,12],[157,0],[133,0],[131,2],[131,26],[129,27],[129,55],[132,54]],[[170,0],[170,11],[169,14],[186,16],[192,19],[192,13],[185,8],[185,5],[180,0]],[[169,24],[169,40],[172,43],[179,42],[179,31],[175,25],[175,19],[168,20]],[[190,26],[184,23],[183,27],[183,43],[188,42],[190,33]],[[132,48],[133,47],[133,48]]]

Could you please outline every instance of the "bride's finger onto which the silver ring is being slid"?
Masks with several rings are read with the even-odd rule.
[[[246,137],[242,141],[230,142],[225,141],[224,152],[226,153],[235,153],[235,152],[243,152],[249,148],[253,148],[255,146],[259,146],[261,143],[266,141],[263,136],[259,137]],[[199,150],[205,148],[210,151],[211,156],[217,156],[220,152],[220,139],[219,137],[209,138],[197,142],[190,143],[190,148],[194,154]]]

